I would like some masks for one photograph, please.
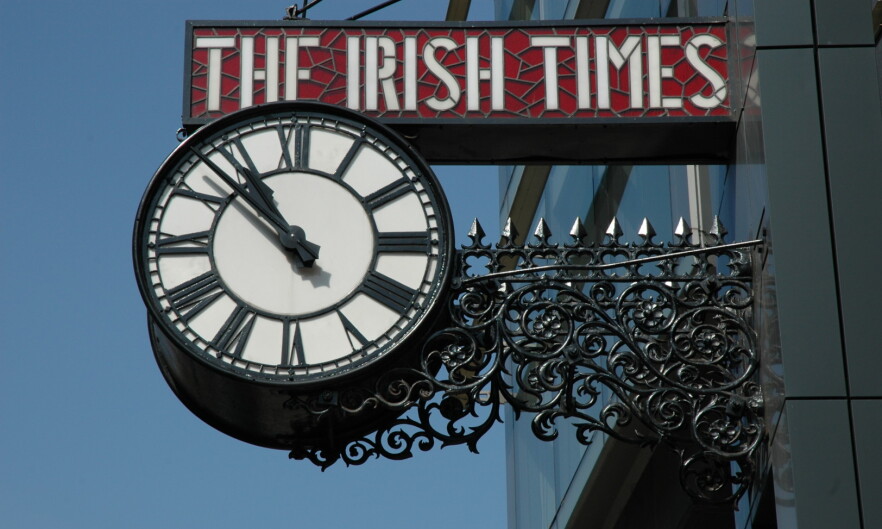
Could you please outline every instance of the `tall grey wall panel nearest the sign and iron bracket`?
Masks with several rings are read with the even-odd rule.
[[[786,392],[845,396],[814,54],[757,61]]]

